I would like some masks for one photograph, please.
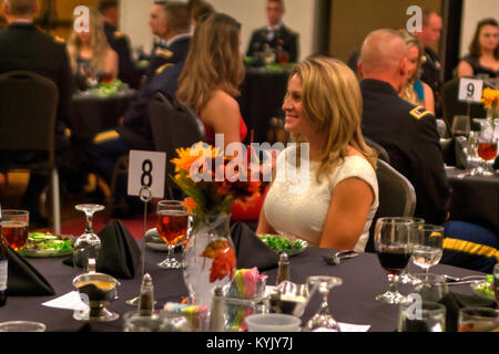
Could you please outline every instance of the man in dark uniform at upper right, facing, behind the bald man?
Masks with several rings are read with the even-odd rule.
[[[437,12],[425,10],[422,12],[421,32],[415,32],[425,48],[421,65],[421,81],[426,82],[435,95],[435,112],[441,116],[440,88],[444,83],[444,67],[438,54],[431,49],[441,35],[442,21]]]

